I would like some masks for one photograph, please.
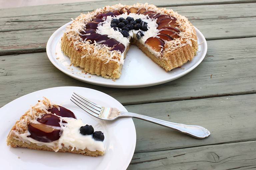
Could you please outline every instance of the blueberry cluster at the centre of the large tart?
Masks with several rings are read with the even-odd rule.
[[[128,38],[130,30],[147,31],[148,30],[147,24],[148,24],[147,22],[144,22],[141,19],[134,20],[132,17],[127,17],[126,19],[124,19],[124,18],[112,19],[110,26],[115,31],[120,31],[124,37]],[[142,37],[142,35],[143,35],[142,32],[140,32],[141,37]]]

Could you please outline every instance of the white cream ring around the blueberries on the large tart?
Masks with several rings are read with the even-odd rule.
[[[126,19],[127,17],[132,17],[134,18],[134,20],[136,19],[141,19],[142,21],[147,22],[148,24],[148,30],[147,31],[141,31],[141,30],[130,30],[129,31],[129,38],[123,37],[123,35],[119,32],[119,31],[115,31],[113,28],[111,28],[111,20],[113,18],[124,18]],[[99,25],[96,32],[98,34],[101,35],[108,35],[109,38],[113,38],[119,42],[121,42],[122,44],[125,45],[125,47],[128,46],[128,44],[130,43],[130,39],[131,38],[136,38],[136,34],[141,31],[144,36],[139,40],[142,44],[145,44],[145,41],[150,38],[150,37],[156,37],[158,35],[159,30],[157,29],[158,25],[156,23],[156,20],[152,20],[151,18],[148,17],[148,15],[142,15],[142,14],[135,14],[135,13],[130,13],[129,15],[126,13],[118,15],[116,17],[111,17],[111,16],[107,16],[106,20],[103,22],[102,25]],[[150,46],[146,46],[147,48],[149,48],[149,51],[153,51],[152,53],[154,55],[158,55],[159,52],[154,51]]]

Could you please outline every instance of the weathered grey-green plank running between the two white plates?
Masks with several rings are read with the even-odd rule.
[[[97,89],[124,105],[255,93],[255,43],[256,38],[208,41],[207,56],[191,73],[162,85],[129,90],[70,78],[51,64],[46,53],[0,56],[0,106],[33,91],[57,86]]]

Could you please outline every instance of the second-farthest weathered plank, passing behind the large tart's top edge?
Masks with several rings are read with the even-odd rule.
[[[188,17],[188,19],[193,20],[255,17],[255,8],[256,3],[167,7],[167,9],[173,9],[179,14]],[[69,22],[71,18],[80,15],[80,13],[81,12],[0,18],[0,31],[59,28]]]

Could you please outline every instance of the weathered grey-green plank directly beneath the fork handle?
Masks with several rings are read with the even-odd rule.
[[[126,106],[165,121],[199,125],[211,135],[196,139],[168,128],[134,120],[137,144],[135,153],[187,148],[216,143],[256,140],[256,94]]]

